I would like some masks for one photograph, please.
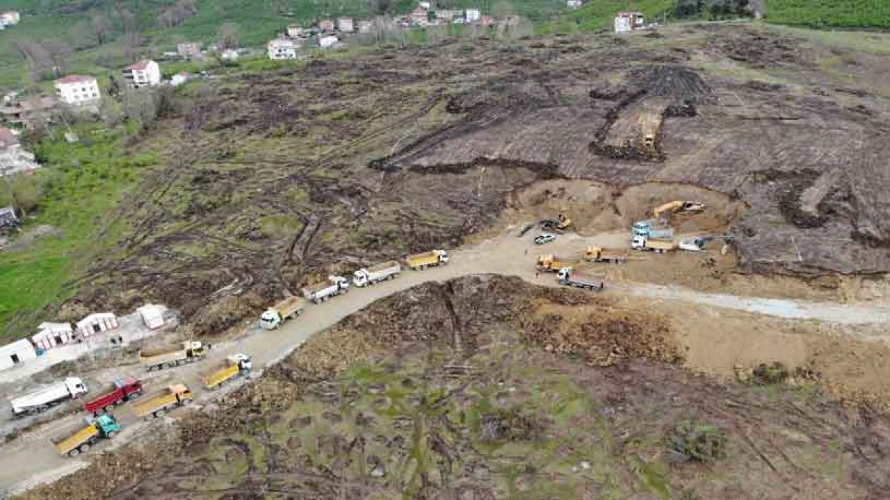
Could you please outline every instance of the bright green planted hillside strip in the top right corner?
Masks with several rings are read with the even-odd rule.
[[[890,1],[768,0],[765,18],[813,28],[890,28]]]

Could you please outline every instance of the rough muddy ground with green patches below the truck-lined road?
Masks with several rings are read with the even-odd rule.
[[[678,334],[518,278],[428,283],[26,497],[885,496],[886,417],[803,378],[692,375]]]

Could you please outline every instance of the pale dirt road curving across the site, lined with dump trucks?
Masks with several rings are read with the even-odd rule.
[[[558,286],[553,274],[536,276],[532,265],[536,254],[546,251],[546,253],[579,255],[588,245],[627,246],[626,233],[601,234],[591,238],[563,235],[547,246],[534,246],[531,243],[531,238],[537,234],[535,231],[531,231],[523,238],[517,238],[516,233],[517,230],[511,228],[510,232],[496,238],[458,249],[451,254],[451,262],[447,266],[423,271],[404,270],[398,279],[364,289],[353,288],[348,294],[336,297],[331,302],[311,305],[303,316],[285,323],[279,330],[263,331],[256,327],[249,327],[243,335],[239,335],[231,341],[215,344],[214,350],[209,355],[211,359],[206,361],[143,375],[151,389],[162,387],[166,383],[187,383],[196,392],[198,402],[206,403],[214,397],[214,393],[203,389],[200,370],[211,362],[236,352],[244,352],[254,359],[254,366],[257,369],[269,367],[287,357],[290,352],[298,348],[314,333],[331,327],[337,321],[390,294],[426,281],[446,280],[480,273],[518,276],[538,285]],[[657,258],[657,256],[652,258]],[[890,309],[879,307],[705,294],[679,287],[643,284],[620,284],[617,286],[607,284],[605,293],[644,295],[668,301],[694,302],[716,308],[745,310],[785,319],[811,319],[845,324],[890,322]],[[200,405],[194,407],[200,407]],[[126,440],[138,439],[139,435],[163,424],[159,422],[140,423],[132,415],[129,415],[127,408],[117,413],[119,420],[125,426],[125,433],[115,440],[117,446]],[[182,412],[174,412],[173,416],[167,418],[175,418],[177,414],[182,415]],[[0,456],[4,463],[3,469],[0,470],[0,488],[10,492],[21,491],[40,482],[58,479],[85,466],[86,459],[76,460],[58,456],[48,441],[48,438],[53,435],[53,430],[61,429],[74,419],[83,418],[83,416],[73,415],[45,425],[43,428],[29,432],[20,439],[0,448]],[[100,450],[108,449],[109,444],[102,444],[99,448]]]

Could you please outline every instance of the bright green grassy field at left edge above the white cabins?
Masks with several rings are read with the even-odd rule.
[[[38,213],[17,238],[21,247],[0,254],[0,342],[33,330],[48,306],[74,292],[69,279],[119,234],[109,217],[117,201],[155,161],[125,154],[121,133],[78,132],[80,143],[44,141],[36,148],[44,161],[35,179],[43,191]],[[28,243],[28,233],[41,225],[53,233]]]

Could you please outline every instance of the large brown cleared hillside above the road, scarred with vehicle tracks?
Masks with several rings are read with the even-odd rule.
[[[137,145],[168,161],[114,214],[130,230],[74,302],[164,302],[218,333],[331,271],[455,246],[517,189],[561,178],[606,187],[601,208],[570,214],[590,229],[687,193],[721,207],[708,229],[731,232],[740,270],[884,273],[887,62],[868,50],[684,26],[447,40],[200,82]],[[824,62],[837,58],[844,75]],[[651,151],[639,123],[660,127]]]

